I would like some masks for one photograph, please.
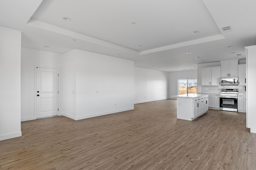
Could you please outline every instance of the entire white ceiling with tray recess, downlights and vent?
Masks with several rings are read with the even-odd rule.
[[[22,31],[22,47],[178,71],[245,59],[244,47],[256,45],[255,7],[256,0],[1,0],[0,26]]]

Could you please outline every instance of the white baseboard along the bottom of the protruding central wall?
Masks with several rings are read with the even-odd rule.
[[[122,111],[133,110],[133,109],[134,109],[134,107],[130,107],[130,108],[126,108],[126,109],[119,109],[119,110],[107,111],[107,112],[102,112],[102,113],[95,113],[95,114],[91,114],[91,115],[83,115],[83,116],[78,116],[78,117],[75,117],[73,115],[69,115],[69,114],[63,113],[63,112],[62,112],[62,115],[66,116],[70,119],[73,119],[73,120],[81,120],[81,119],[88,119],[88,118],[91,118],[91,117],[108,115],[108,114],[112,114],[112,113],[118,113],[118,112],[122,112]]]

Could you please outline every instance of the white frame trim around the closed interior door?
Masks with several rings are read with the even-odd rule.
[[[35,65],[34,68],[34,119],[36,119],[36,80],[37,80],[37,70],[36,68],[52,68],[52,69],[57,69],[58,70],[58,116],[60,115],[60,68],[59,67],[49,67],[49,66],[40,66],[40,65]],[[41,118],[38,118],[41,119]]]

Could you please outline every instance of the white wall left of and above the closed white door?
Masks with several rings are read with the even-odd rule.
[[[62,55],[58,53],[21,48],[21,121],[35,119],[35,66],[60,68],[61,57]]]

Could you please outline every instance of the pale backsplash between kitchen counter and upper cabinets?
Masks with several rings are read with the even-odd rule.
[[[237,88],[238,93],[246,94],[246,86],[202,86],[202,93],[220,93],[222,88]]]

